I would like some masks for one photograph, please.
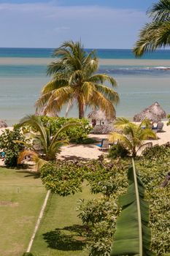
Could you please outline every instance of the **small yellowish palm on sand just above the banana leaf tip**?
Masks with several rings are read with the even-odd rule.
[[[126,118],[117,118],[115,127],[121,129],[123,134],[112,132],[109,135],[109,140],[120,141],[125,148],[128,148],[132,157],[136,157],[137,152],[148,144],[144,143],[144,140],[147,140],[148,138],[157,138],[155,132],[149,128],[149,122],[149,120],[145,119],[141,124],[137,125],[128,121]],[[143,129],[143,126],[146,128]]]

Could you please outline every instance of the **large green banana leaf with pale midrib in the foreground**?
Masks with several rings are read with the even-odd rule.
[[[122,211],[120,217],[117,217],[111,256],[155,255],[150,251],[149,203],[144,200],[144,184],[136,173],[134,159],[132,163],[128,168],[128,191],[120,196],[118,202]]]

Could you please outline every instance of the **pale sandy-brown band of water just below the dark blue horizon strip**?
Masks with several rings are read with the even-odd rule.
[[[1,57],[0,65],[47,65],[53,58],[11,58]],[[170,67],[169,59],[99,59],[100,65],[115,65],[115,66],[166,66]]]

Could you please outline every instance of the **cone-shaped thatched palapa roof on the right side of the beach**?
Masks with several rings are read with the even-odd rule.
[[[141,113],[134,116],[134,121],[143,121],[144,118],[152,120],[157,123],[161,119],[166,118],[166,112],[161,108],[158,102],[153,103],[148,108],[144,108]]]

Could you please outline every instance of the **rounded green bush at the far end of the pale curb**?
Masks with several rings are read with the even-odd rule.
[[[83,168],[72,162],[48,162],[40,172],[42,183],[52,193],[66,196],[82,190]]]

